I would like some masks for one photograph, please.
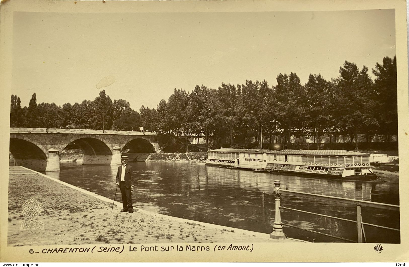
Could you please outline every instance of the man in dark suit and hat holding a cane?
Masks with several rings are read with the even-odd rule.
[[[116,185],[119,185],[119,188],[121,189],[122,206],[124,207],[120,212],[128,211],[129,213],[133,213],[131,195],[131,190],[133,190],[133,169],[131,166],[126,164],[128,162],[128,156],[122,156],[121,161],[122,165],[118,167],[116,183]]]

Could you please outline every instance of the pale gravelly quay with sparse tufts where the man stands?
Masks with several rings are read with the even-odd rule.
[[[120,193],[117,198],[120,198]],[[138,243],[276,243],[269,234],[176,218],[134,207],[21,166],[9,167],[9,246]],[[272,228],[272,227],[271,227]]]

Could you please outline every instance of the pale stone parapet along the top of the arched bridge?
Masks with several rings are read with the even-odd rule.
[[[142,131],[112,131],[112,130],[92,130],[92,129],[54,129],[54,128],[10,128],[11,134],[119,134],[133,136],[157,136],[156,132]]]

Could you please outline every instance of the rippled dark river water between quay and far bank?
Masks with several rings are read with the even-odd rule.
[[[261,233],[272,232],[275,216],[272,189],[276,179],[287,190],[399,205],[398,184],[255,173],[191,162],[132,162],[130,165],[137,178],[134,208]],[[46,174],[113,200],[117,168],[61,162],[61,171]],[[119,190],[116,200],[121,201]],[[281,206],[357,220],[353,205],[281,195]],[[357,240],[354,223],[284,209],[281,218],[283,223],[296,227]],[[363,207],[362,220],[400,228],[398,212]],[[398,231],[371,226],[365,226],[364,230],[368,243],[400,243]],[[292,227],[284,227],[284,232],[288,237],[312,242],[345,242]]]

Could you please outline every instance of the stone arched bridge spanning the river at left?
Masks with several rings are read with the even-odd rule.
[[[59,171],[59,155],[67,147],[82,149],[83,164],[121,165],[121,150],[160,152],[170,139],[169,135],[140,131],[10,128],[10,152],[16,165]]]

